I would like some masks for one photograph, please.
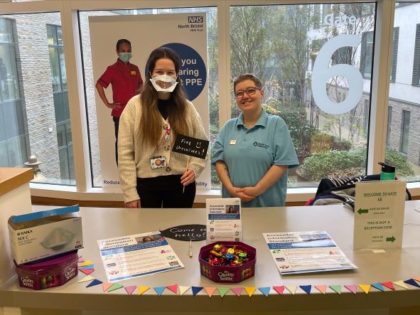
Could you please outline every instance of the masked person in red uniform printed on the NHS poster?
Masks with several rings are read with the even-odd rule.
[[[131,59],[131,43],[126,39],[117,41],[117,62],[109,65],[107,70],[97,80],[96,89],[102,102],[112,109],[111,115],[115,127],[115,161],[118,165],[118,126],[119,117],[126,103],[138,94],[143,87],[140,70],[136,65],[129,63]],[[112,85],[112,102],[107,100],[104,88]]]

